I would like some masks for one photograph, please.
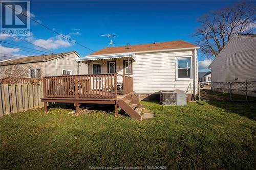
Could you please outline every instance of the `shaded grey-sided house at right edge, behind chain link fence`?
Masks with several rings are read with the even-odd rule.
[[[209,68],[212,82],[256,81],[256,34],[232,36]],[[233,84],[232,89],[236,85]],[[245,83],[239,86],[239,90],[246,88]],[[251,95],[256,96],[256,85],[248,88]]]

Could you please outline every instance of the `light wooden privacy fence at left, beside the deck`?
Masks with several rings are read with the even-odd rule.
[[[0,116],[41,108],[42,83],[0,84]]]

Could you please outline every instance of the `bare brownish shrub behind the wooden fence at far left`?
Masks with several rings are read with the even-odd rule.
[[[14,64],[9,66],[4,66],[0,70],[1,79],[22,79],[28,77],[28,69],[24,68],[20,64]]]

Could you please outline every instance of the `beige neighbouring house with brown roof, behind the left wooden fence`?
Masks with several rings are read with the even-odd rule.
[[[60,76],[77,74],[77,62],[75,58],[80,56],[75,52],[60,54],[22,57],[16,60],[0,62],[0,70],[12,65],[21,65],[28,70],[28,78],[40,79],[42,76]],[[80,74],[87,74],[86,64],[80,63]],[[0,71],[0,78],[3,75]]]

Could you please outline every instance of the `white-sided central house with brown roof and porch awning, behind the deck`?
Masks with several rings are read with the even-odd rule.
[[[183,40],[106,47],[76,61],[88,64],[89,74],[133,77],[134,91],[140,99],[159,98],[160,90],[180,89],[197,94],[198,48]],[[121,77],[118,79],[122,82]]]

